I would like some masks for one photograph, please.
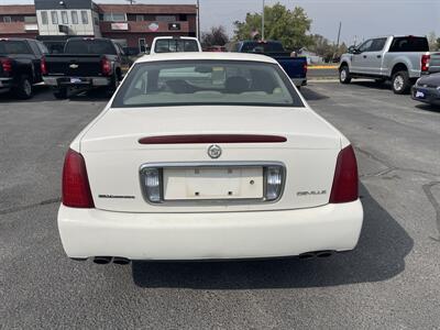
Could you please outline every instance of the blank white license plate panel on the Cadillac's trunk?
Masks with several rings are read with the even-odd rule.
[[[261,199],[263,168],[164,168],[165,200]]]

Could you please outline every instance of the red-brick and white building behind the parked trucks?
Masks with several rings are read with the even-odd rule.
[[[195,4],[103,4],[91,0],[34,0],[0,6],[0,38],[45,43],[72,36],[109,37],[144,51],[155,36],[197,36]]]

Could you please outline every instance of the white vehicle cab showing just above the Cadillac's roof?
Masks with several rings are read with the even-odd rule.
[[[156,36],[150,50],[151,55],[180,52],[201,52],[201,45],[191,36]]]

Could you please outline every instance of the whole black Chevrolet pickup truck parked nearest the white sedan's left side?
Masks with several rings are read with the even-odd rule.
[[[69,92],[103,87],[112,94],[122,80],[122,67],[130,66],[122,47],[110,38],[72,37],[64,54],[46,55],[42,61],[44,82],[57,99]]]

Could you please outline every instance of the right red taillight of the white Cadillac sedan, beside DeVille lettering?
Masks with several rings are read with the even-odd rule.
[[[340,151],[334,169],[330,202],[349,202],[359,197],[358,163],[351,145]]]

